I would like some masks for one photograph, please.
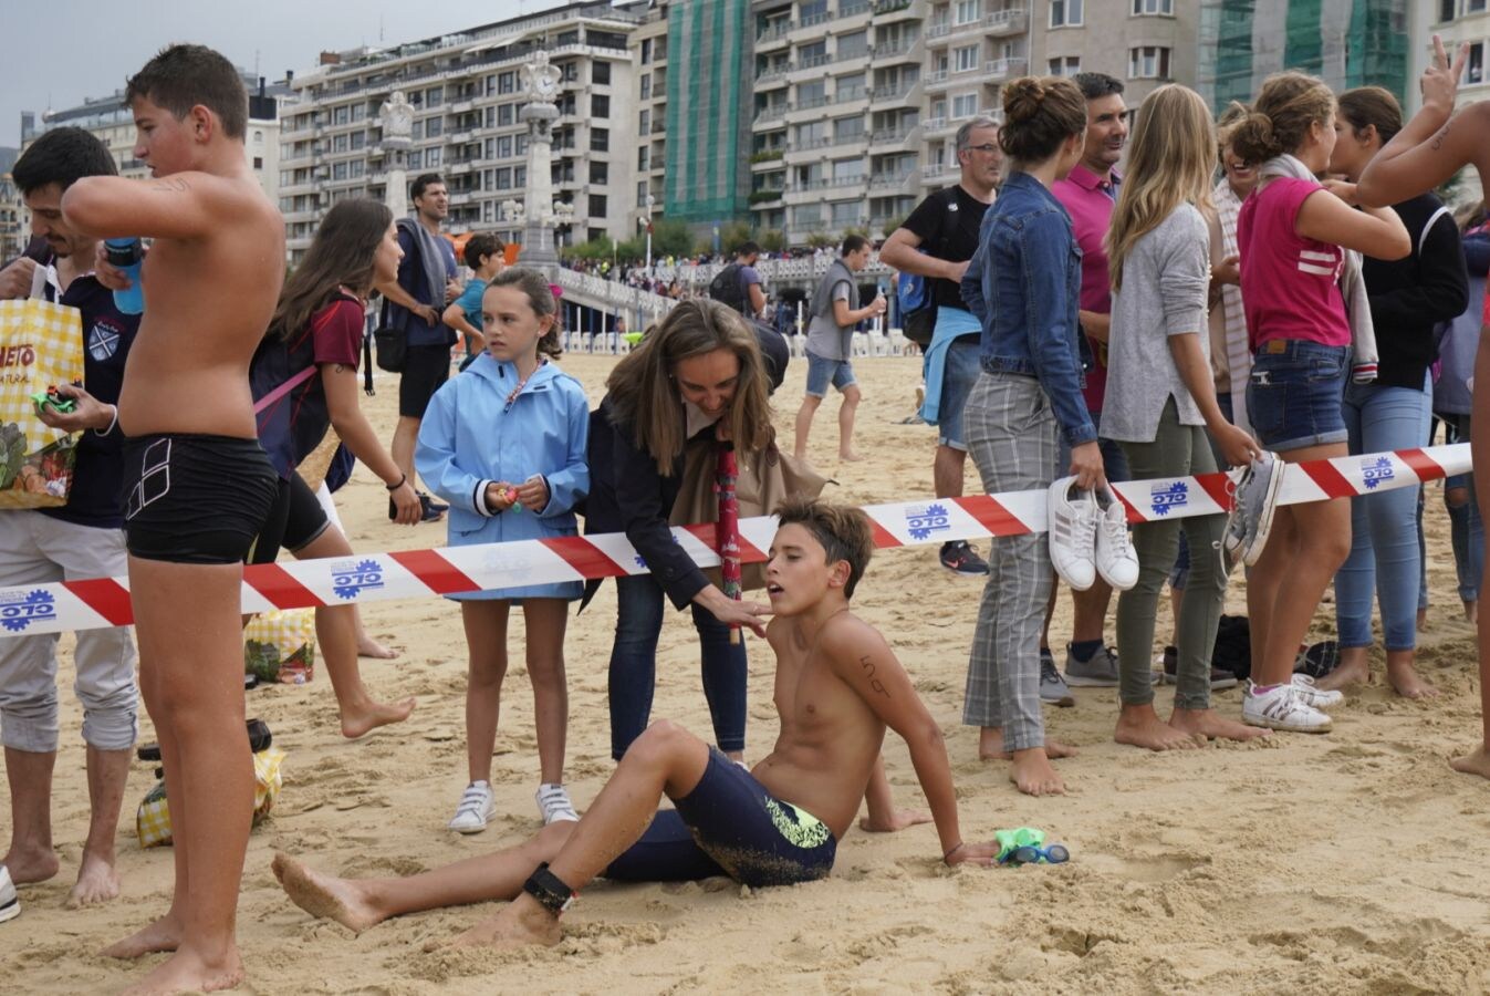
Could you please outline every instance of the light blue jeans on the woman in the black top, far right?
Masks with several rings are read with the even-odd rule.
[[[1351,383],[1342,415],[1351,453],[1402,450],[1427,443],[1432,383],[1424,389]],[[1381,605],[1387,650],[1417,643],[1421,559],[1417,547],[1417,495],[1398,488],[1350,499],[1350,556],[1335,574],[1335,620],[1341,647],[1371,646],[1371,593]]]

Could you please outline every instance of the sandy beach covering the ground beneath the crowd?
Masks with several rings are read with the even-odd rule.
[[[568,356],[597,403],[609,356]],[[839,464],[837,400],[818,413],[811,452],[839,483],[828,497],[855,504],[931,495],[934,429],[900,425],[912,410],[919,358],[855,364],[864,386],[857,449]],[[790,447],[805,361],[776,394],[776,428]],[[392,435],[396,385],[365,398],[381,437]],[[968,464],[968,488],[976,471]],[[365,468],[340,492],[359,550],[443,546],[444,525],[401,529],[384,517],[386,492]],[[361,936],[294,907],[270,872],[274,851],[343,875],[434,868],[517,842],[538,828],[538,754],[532,693],[514,614],[513,664],[496,744],[498,819],[475,836],[446,822],[465,787],[466,649],[448,601],[364,607],[368,631],[399,650],[364,661],[375,695],[413,695],[401,725],[361,741],[340,735],[323,668],[308,686],[249,692],[249,716],[268,722],[288,751],[285,787],[255,830],[240,902],[238,939],[249,993],[1469,993],[1490,989],[1490,784],[1448,769],[1480,731],[1474,629],[1454,584],[1448,519],[1438,485],[1427,492],[1432,608],[1418,634],[1420,669],[1442,696],[1398,698],[1377,683],[1334,710],[1323,737],[1280,734],[1246,747],[1150,754],[1112,743],[1116,690],[1076,689],[1074,708],[1047,708],[1049,734],[1080,754],[1059,762],[1065,796],[1019,795],[1003,762],[977,760],[977,735],[961,725],[963,683],[979,580],[954,577],[934,547],[881,553],[854,599],[890,638],[942,723],[961,805],[963,833],[1044,828],[1071,862],[1025,869],[949,869],[936,832],[854,829],[831,878],[749,892],[727,880],[682,886],[597,883],[565,917],[565,941],[522,953],[425,953],[496,907],[444,910],[380,924]],[[986,550],[986,544],[983,546]],[[1238,571],[1228,611],[1244,613]],[[1052,643],[1070,634],[1062,595]],[[611,586],[571,617],[566,781],[583,810],[612,769],[606,661],[615,619]],[[654,719],[700,735],[709,722],[697,643],[687,613],[672,614],[659,649]],[[1168,608],[1159,620],[1162,650]],[[1334,605],[1316,614],[1311,640],[1334,634]],[[1109,623],[1109,640],[1112,628]],[[128,965],[100,957],[106,944],[165,911],[171,854],[140,850],[134,810],[153,765],[136,762],[118,833],[124,892],[82,911],[64,908],[86,832],[82,714],[72,695],[72,638],[63,638],[63,753],[54,833],[63,862],[49,883],[21,889],[22,914],[0,924],[0,989],[104,993],[164,956]],[[773,661],[751,638],[746,759],[775,735]],[[1173,687],[1161,687],[1168,714]],[[1240,690],[1216,695],[1228,716]],[[140,740],[153,740],[142,707]],[[904,744],[885,759],[900,805],[922,807]],[[0,786],[0,819],[9,792]]]

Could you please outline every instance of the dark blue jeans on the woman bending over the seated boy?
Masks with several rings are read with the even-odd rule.
[[[611,647],[611,757],[621,759],[651,720],[657,684],[657,635],[662,632],[662,586],[650,574],[615,579],[615,644]],[[720,750],[745,750],[745,640],[730,643],[730,629],[706,608],[693,608],[703,658],[703,698]]]

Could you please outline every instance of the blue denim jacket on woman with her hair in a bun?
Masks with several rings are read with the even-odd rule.
[[[1071,216],[1028,173],[1013,173],[983,215],[963,300],[983,324],[982,367],[1036,377],[1071,446],[1097,438],[1082,398],[1082,250]]]

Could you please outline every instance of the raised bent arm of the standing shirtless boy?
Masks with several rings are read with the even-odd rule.
[[[63,194],[67,222],[98,239],[198,239],[247,206],[243,186],[210,173],[85,176]]]

